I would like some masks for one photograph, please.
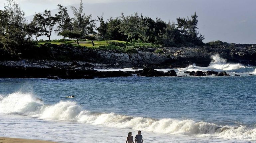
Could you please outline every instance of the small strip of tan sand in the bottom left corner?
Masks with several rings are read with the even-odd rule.
[[[57,143],[53,141],[0,137],[0,143]]]

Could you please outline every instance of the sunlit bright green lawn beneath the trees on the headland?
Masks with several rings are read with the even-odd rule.
[[[125,41],[118,41],[118,40],[94,41],[94,47],[109,45],[107,42],[126,43]],[[45,44],[45,43],[51,43],[51,44],[57,44],[57,45],[64,44],[64,43],[76,44],[76,42],[74,42],[74,41],[65,41],[65,42],[39,42],[39,44]],[[86,47],[92,47],[91,41],[79,41],[79,45],[80,45],[80,46],[86,46]]]

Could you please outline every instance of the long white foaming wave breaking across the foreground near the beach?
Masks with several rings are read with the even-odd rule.
[[[32,94],[20,92],[12,93],[0,101],[0,114],[31,115],[41,119],[71,120],[93,125],[176,135],[256,140],[255,128],[221,126],[204,121],[196,122],[191,119],[151,119],[114,113],[93,113],[83,110],[75,102],[70,101],[61,101],[55,105],[43,105]]]

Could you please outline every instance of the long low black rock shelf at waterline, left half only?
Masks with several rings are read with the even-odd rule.
[[[77,66],[77,65],[76,65]],[[91,79],[94,77],[132,76],[131,72],[99,72],[86,67],[21,67],[0,65],[2,78]]]

